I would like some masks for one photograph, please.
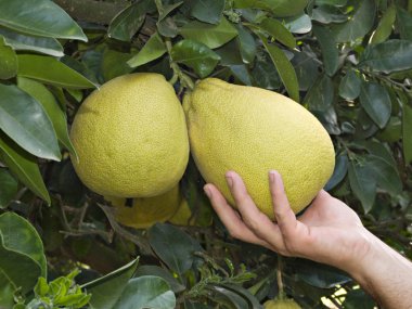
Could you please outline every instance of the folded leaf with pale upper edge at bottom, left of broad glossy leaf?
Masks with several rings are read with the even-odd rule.
[[[124,267],[81,286],[90,293],[90,305],[98,309],[114,309],[121,297],[127,282],[132,278],[138,267],[139,259],[134,259]]]

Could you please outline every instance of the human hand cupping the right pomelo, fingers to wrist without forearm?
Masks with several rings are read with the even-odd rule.
[[[241,177],[227,175],[236,203],[234,210],[219,190],[206,184],[204,190],[229,233],[241,241],[258,244],[284,256],[297,256],[356,272],[370,248],[371,233],[357,214],[324,190],[306,211],[296,218],[291,209],[279,172],[269,172],[276,222],[262,214],[248,195]]]

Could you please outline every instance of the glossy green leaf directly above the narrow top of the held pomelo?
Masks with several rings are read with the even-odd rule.
[[[172,47],[171,59],[193,68],[201,78],[205,78],[214,70],[220,56],[203,43],[182,40]]]

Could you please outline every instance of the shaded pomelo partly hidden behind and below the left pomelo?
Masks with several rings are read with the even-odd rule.
[[[115,206],[114,215],[118,222],[134,229],[146,229],[170,219],[178,211],[183,197],[178,184],[158,196],[133,198],[131,207],[126,205],[126,198],[105,196],[105,199]]]

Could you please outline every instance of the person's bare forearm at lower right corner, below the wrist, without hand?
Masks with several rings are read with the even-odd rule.
[[[348,272],[384,308],[412,308],[412,262],[373,234],[368,239],[368,254]]]

